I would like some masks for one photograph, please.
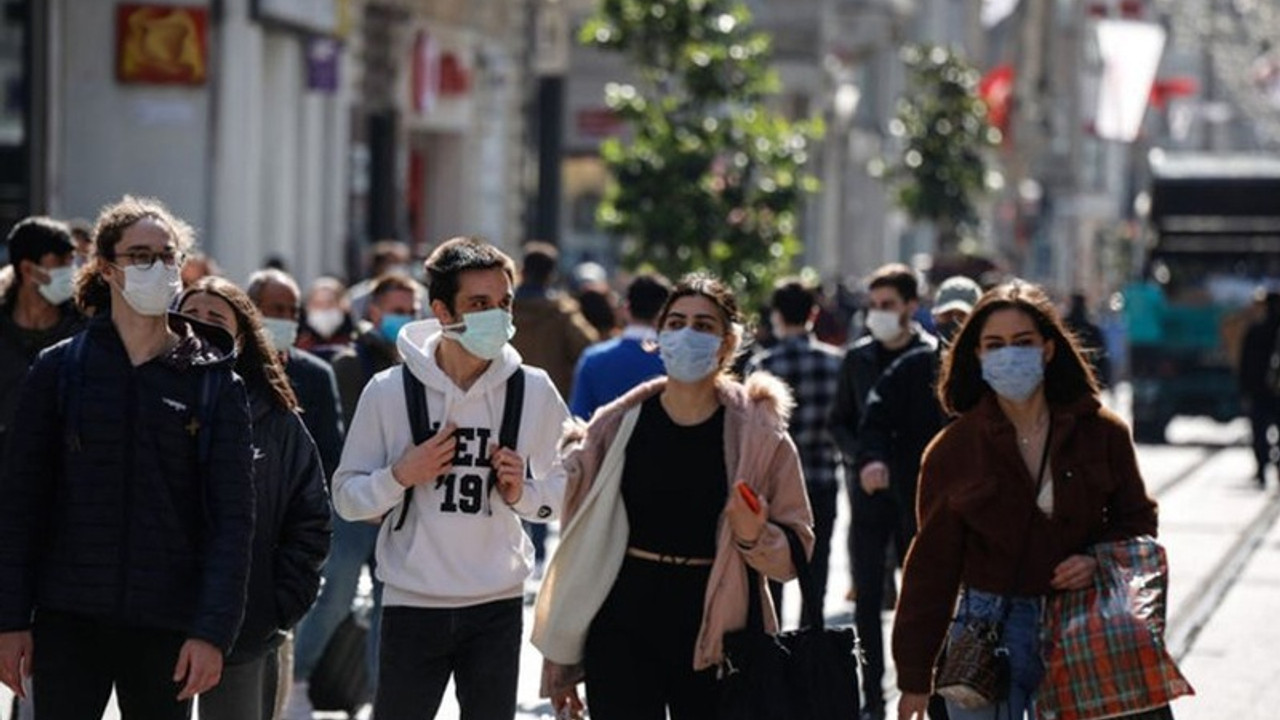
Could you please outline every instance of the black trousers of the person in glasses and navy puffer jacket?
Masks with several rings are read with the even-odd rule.
[[[191,701],[178,702],[182,684],[173,682],[182,633],[40,610],[32,642],[40,720],[101,717],[113,687],[124,720],[191,717]]]

